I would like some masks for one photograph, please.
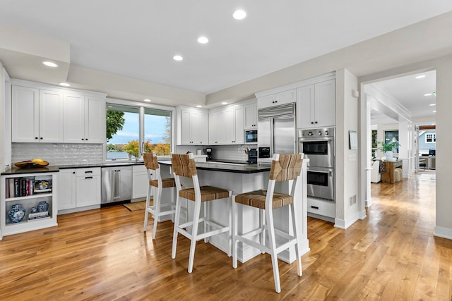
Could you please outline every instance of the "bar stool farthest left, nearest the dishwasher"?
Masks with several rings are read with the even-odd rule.
[[[163,188],[174,188],[176,183],[174,178],[163,178],[160,175],[160,164],[157,162],[157,156],[149,152],[143,154],[144,165],[148,171],[149,185],[148,185],[148,196],[146,197],[146,209],[144,213],[144,226],[143,231],[146,231],[148,226],[148,214],[152,214],[154,219],[153,226],[153,240],[155,239],[155,233],[157,232],[157,223],[160,216],[167,216],[169,214],[174,214],[175,205],[174,199],[171,202],[162,204],[162,190]],[[150,206],[150,194],[152,189],[154,190],[154,204]],[[162,209],[165,208],[165,211]]]

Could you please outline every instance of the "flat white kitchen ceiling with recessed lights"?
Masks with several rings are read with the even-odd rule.
[[[449,0],[1,0],[0,25],[69,42],[68,78],[77,66],[210,94],[448,11]],[[400,102],[412,92],[384,85]]]

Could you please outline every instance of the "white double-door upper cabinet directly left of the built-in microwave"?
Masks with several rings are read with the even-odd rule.
[[[228,106],[209,113],[209,144],[235,145],[244,143],[244,108]]]

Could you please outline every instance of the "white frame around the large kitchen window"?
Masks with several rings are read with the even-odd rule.
[[[143,145],[144,142],[144,111],[145,108],[147,109],[158,109],[158,110],[165,110],[165,111],[171,111],[171,147],[170,147],[170,152],[174,152],[174,145],[176,142],[176,133],[175,133],[175,125],[176,125],[176,108],[174,108],[173,106],[162,106],[159,104],[146,104],[143,102],[136,102],[136,101],[129,101],[129,100],[124,100],[124,99],[112,99],[112,98],[107,98],[105,99],[105,113],[107,113],[107,109],[108,109],[108,104],[119,104],[119,105],[123,105],[123,106],[137,106],[139,108],[139,133],[138,133],[138,140],[140,143],[140,147],[141,145]],[[107,152],[105,151],[105,149],[107,149],[107,137],[105,137],[104,139],[104,143],[103,145],[103,149],[104,152],[102,152],[102,161],[104,162],[111,162],[112,160],[107,160]],[[143,151],[141,150],[141,154],[140,154],[140,161],[143,161],[143,155],[142,155]],[[159,158],[169,158],[169,156],[158,156]],[[117,159],[114,161],[129,161],[129,159]]]

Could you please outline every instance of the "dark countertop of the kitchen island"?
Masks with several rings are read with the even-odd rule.
[[[159,160],[158,163],[165,166],[171,166],[170,160]],[[270,171],[270,166],[260,166],[258,164],[230,164],[222,162],[196,162],[196,169],[225,173],[263,173]]]

